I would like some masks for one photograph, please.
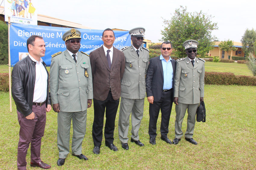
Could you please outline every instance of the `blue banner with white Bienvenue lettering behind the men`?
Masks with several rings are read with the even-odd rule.
[[[45,41],[45,56],[42,57],[47,66],[51,65],[51,55],[65,51],[65,42],[62,35],[71,28],[48,27],[41,25],[23,25],[12,23],[10,27],[11,66],[28,55],[27,39],[31,35],[42,36]],[[81,46],[79,51],[87,54],[103,45],[102,32],[104,30],[78,29],[81,32]],[[115,42],[113,46],[122,49],[131,45],[129,31],[114,31]]]

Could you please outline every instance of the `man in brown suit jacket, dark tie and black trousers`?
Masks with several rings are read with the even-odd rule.
[[[94,121],[92,138],[93,153],[100,153],[102,129],[106,109],[105,145],[113,151],[118,151],[113,144],[115,118],[121,93],[120,80],[123,77],[125,58],[123,52],[113,47],[114,31],[107,28],[102,33],[103,46],[89,55],[92,67]]]

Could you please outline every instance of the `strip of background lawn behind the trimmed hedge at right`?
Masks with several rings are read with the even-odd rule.
[[[252,76],[246,64],[205,62],[205,71],[231,72],[235,75]]]

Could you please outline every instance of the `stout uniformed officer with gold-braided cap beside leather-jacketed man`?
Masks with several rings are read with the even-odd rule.
[[[53,110],[58,112],[58,166],[65,163],[69,153],[70,125],[73,122],[72,154],[88,160],[82,154],[86,132],[87,108],[92,104],[92,71],[90,58],[79,52],[81,32],[72,28],[63,34],[67,49],[52,55],[50,91]]]

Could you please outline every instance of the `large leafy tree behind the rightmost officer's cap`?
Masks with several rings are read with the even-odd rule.
[[[167,26],[161,30],[163,37],[160,41],[172,42],[177,57],[182,58],[186,57],[183,42],[189,39],[196,40],[199,42],[197,54],[204,56],[214,48],[213,41],[217,38],[211,35],[211,31],[218,29],[217,23],[212,23],[212,16],[202,11],[190,13],[186,10],[187,7],[180,6],[170,20],[164,19]]]

